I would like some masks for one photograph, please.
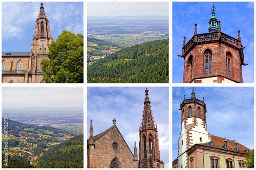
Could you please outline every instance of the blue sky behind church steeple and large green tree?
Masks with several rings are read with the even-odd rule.
[[[42,2],[53,40],[63,30],[83,34],[83,2]],[[2,52],[30,52],[41,2],[2,3]]]

